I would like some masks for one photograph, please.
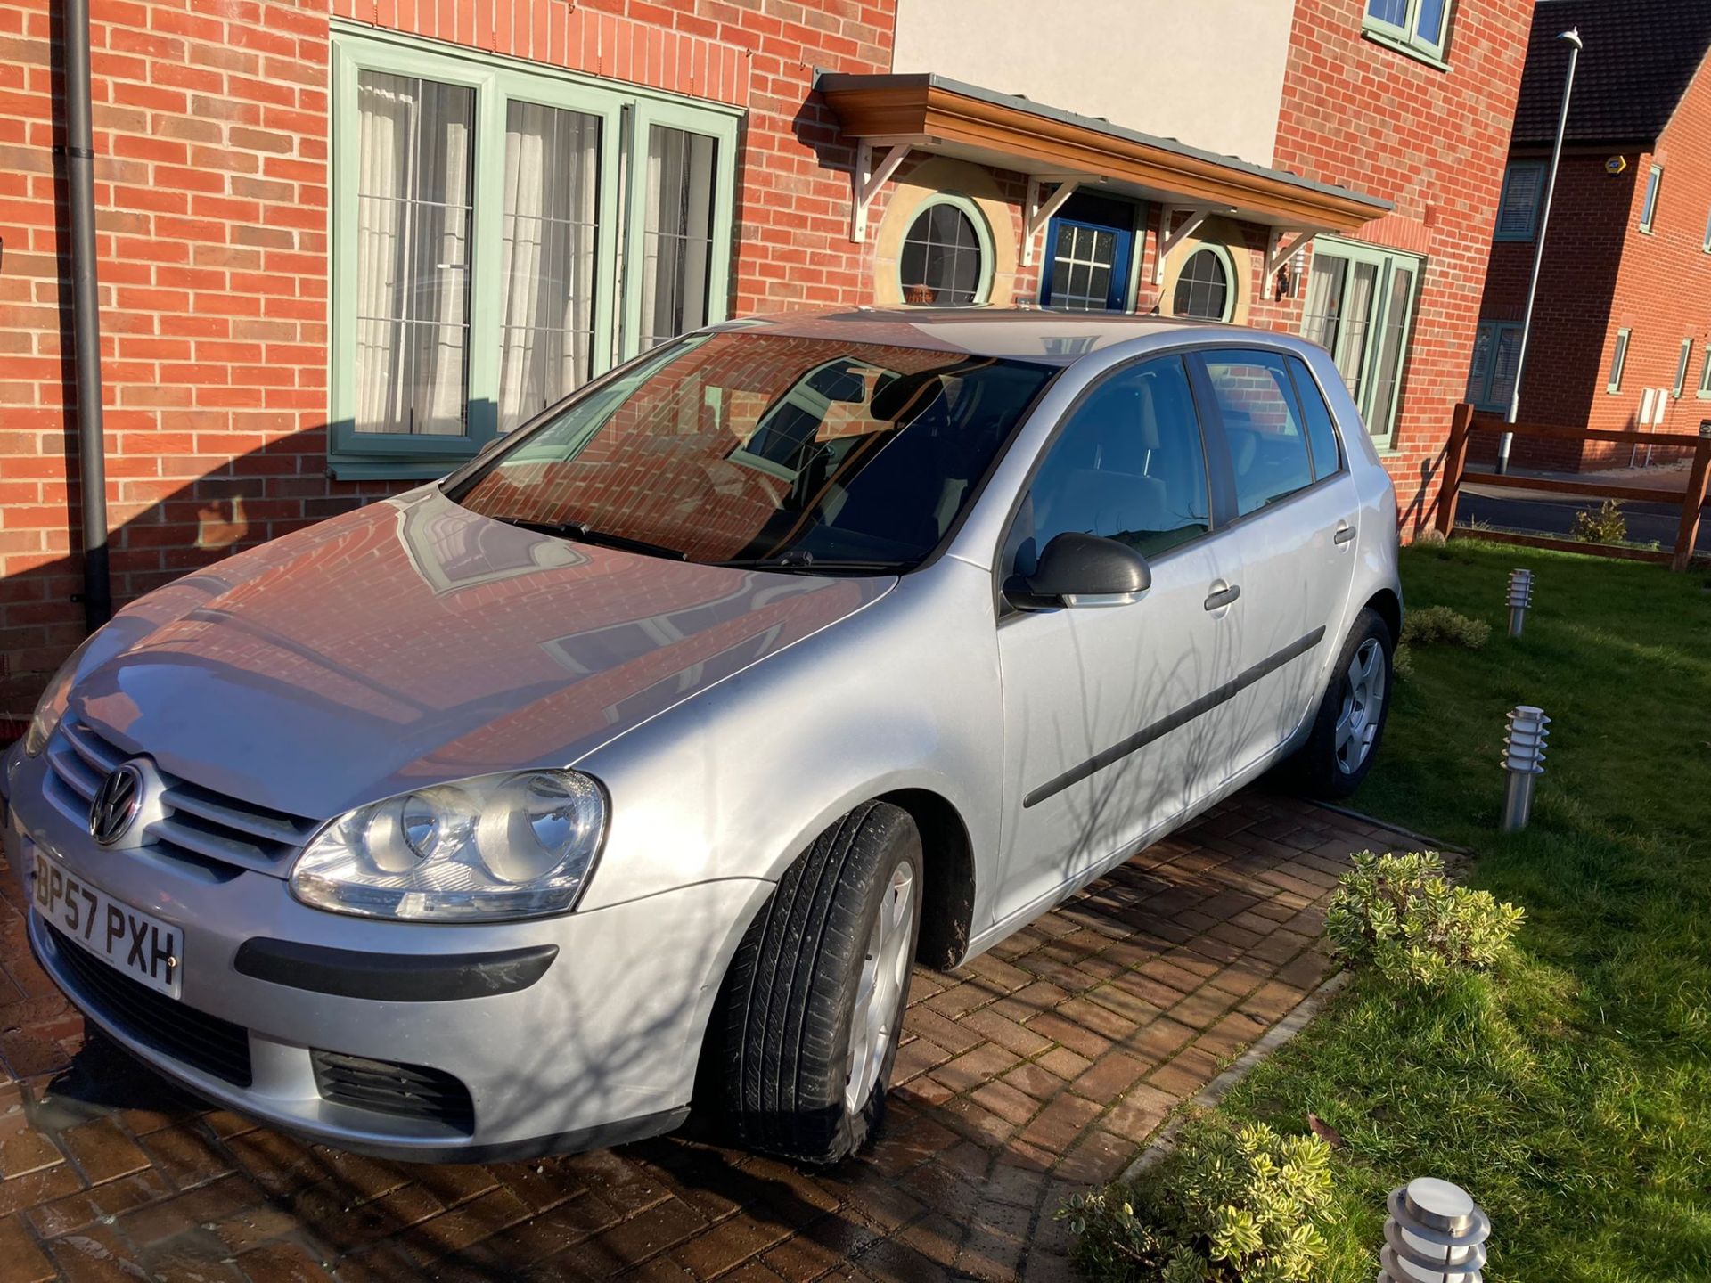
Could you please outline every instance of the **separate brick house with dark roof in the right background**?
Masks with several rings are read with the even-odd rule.
[[[1521,375],[1518,417],[1694,433],[1711,417],[1711,0],[1540,0],[1494,231],[1468,400],[1504,414],[1569,46],[1586,48]],[[1494,438],[1475,438],[1489,455]],[[1673,462],[1678,450],[1516,438],[1545,469]]]

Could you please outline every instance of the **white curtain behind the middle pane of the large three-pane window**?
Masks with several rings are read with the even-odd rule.
[[[589,378],[599,145],[595,116],[506,108],[500,431]]]

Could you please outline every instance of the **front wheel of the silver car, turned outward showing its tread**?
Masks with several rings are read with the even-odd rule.
[[[835,1163],[876,1132],[909,1001],[921,891],[921,833],[888,802],[856,807],[785,871],[725,980],[722,1095],[739,1143]],[[862,997],[871,1037],[856,1040]]]

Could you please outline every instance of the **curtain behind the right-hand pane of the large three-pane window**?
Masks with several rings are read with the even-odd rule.
[[[713,161],[705,133],[654,125],[647,145],[642,253],[642,347],[707,323],[713,248]]]

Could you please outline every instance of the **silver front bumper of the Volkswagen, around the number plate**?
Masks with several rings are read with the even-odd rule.
[[[82,951],[31,910],[31,946],[67,996],[120,1045],[197,1095],[327,1144],[390,1158],[520,1158],[674,1127],[688,1112],[720,979],[772,890],[763,881],[724,879],[536,922],[373,922],[310,908],[267,874],[241,871],[217,881],[144,852],[98,847],[41,799],[39,770],[39,761],[22,761],[9,780],[3,843],[26,891],[36,852],[46,850],[80,881],[176,925],[183,932],[181,1006],[216,1025],[240,1026],[250,1083],[163,1050],[171,1044],[154,1037],[139,1014],[149,1008],[115,1001],[104,984],[113,968],[68,956]],[[394,977],[429,973],[436,982],[469,955],[539,958],[551,951],[546,946],[556,955],[537,979],[510,992],[435,1001],[433,985],[416,985],[411,1001],[399,1001],[385,975],[392,999],[349,996],[351,984],[329,984],[313,968],[294,977],[277,965],[262,968],[275,979],[245,973],[257,970],[255,941],[301,946],[320,958],[359,955]],[[246,943],[250,956],[240,961]],[[421,965],[411,967],[412,958]],[[373,979],[375,968],[368,970]],[[361,977],[363,968],[342,973]],[[340,987],[346,992],[329,992]],[[178,1008],[152,1009],[180,1014]],[[325,1064],[318,1052],[450,1076],[467,1088],[472,1110],[453,1126],[329,1098],[317,1079],[317,1059]]]

